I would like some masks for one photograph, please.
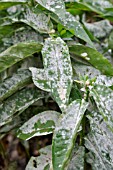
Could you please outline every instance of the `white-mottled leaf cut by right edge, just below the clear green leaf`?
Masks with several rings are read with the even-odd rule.
[[[103,116],[106,124],[113,132],[113,91],[103,85],[95,85],[90,90],[99,112]]]

